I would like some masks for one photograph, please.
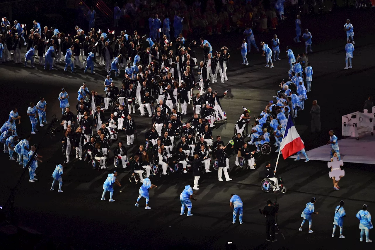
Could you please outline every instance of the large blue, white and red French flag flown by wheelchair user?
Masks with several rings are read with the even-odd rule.
[[[296,127],[294,127],[291,115],[289,115],[284,137],[280,145],[282,157],[285,160],[291,155],[296,154],[298,151],[301,151],[303,148],[305,148],[305,145],[303,145],[301,137],[298,134]]]

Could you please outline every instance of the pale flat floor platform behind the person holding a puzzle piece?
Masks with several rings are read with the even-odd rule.
[[[359,140],[348,137],[347,139],[339,140],[338,143],[341,160],[344,162],[375,164],[375,136],[365,136]],[[331,147],[324,145],[306,151],[306,154],[313,161],[330,161],[330,151]],[[297,158],[297,155],[293,155],[290,158]],[[305,157],[300,154],[300,159],[305,159]]]

